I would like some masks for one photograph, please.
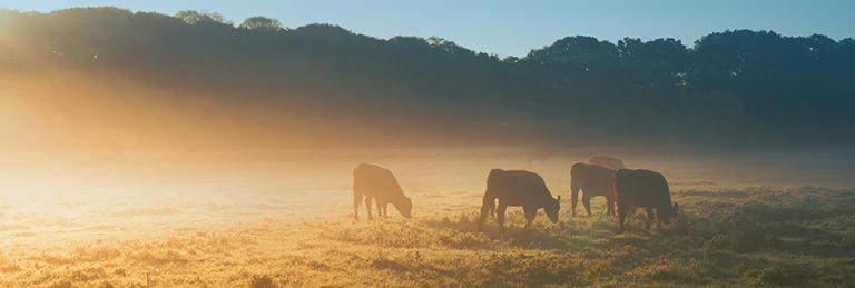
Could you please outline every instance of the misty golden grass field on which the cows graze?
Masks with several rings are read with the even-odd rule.
[[[618,234],[602,198],[571,217],[570,166],[594,153],[662,172],[679,220],[643,230],[639,210]],[[855,287],[855,149],[523,155],[7,155],[0,287]],[[361,161],[395,173],[413,219],[353,220]],[[504,238],[492,218],[475,234],[491,168],[540,173],[561,220],[509,208]]]

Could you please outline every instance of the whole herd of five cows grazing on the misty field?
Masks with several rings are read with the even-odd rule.
[[[588,163],[577,162],[570,169],[571,209],[576,216],[579,191],[582,191],[582,205],[591,216],[591,197],[606,198],[607,213],[619,217],[619,231],[623,232],[623,221],[630,207],[645,208],[647,222],[645,229],[656,217],[658,226],[670,222],[677,217],[677,203],[671,205],[671,196],[665,177],[647,169],[626,169],[620,159],[593,156]],[[411,218],[413,202],[404,195],[395,176],[389,169],[370,163],[360,163],[353,170],[353,219],[360,219],[360,203],[365,199],[368,219],[372,217],[372,200],[377,206],[377,215],[387,217],[389,203],[399,212]],[[495,206],[495,200],[499,206]],[[531,226],[539,209],[543,208],[552,222],[558,222],[561,196],[552,198],[547,185],[539,175],[524,170],[492,169],[487,177],[481,216],[478,231],[481,232],[488,215],[495,215],[499,231],[504,236],[504,211],[509,206],[521,206],[525,215],[525,227]],[[656,210],[656,215],[653,215]]]

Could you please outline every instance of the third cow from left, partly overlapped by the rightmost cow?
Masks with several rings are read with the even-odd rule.
[[[576,162],[570,168],[570,203],[576,216],[576,203],[579,200],[579,190],[582,190],[582,205],[591,216],[591,197],[606,197],[607,213],[615,216],[615,187],[611,177],[615,170],[596,165]]]

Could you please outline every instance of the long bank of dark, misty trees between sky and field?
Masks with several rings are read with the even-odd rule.
[[[569,36],[501,58],[265,17],[0,10],[0,77],[7,136],[62,131],[21,147],[855,142],[855,40],[823,34]]]

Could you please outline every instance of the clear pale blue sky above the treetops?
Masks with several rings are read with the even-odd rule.
[[[568,36],[617,43],[625,37],[675,38],[691,47],[727,29],[820,33],[855,38],[852,0],[718,1],[465,1],[465,0],[1,0],[0,8],[50,12],[72,7],[114,6],[132,12],[174,16],[181,10],[218,12],[239,24],[253,16],[276,18],[287,28],[331,23],[380,39],[440,37],[466,49],[524,57]]]

